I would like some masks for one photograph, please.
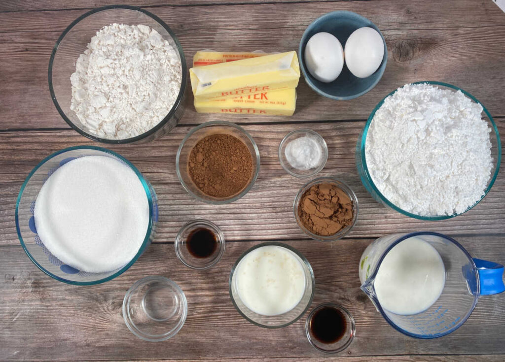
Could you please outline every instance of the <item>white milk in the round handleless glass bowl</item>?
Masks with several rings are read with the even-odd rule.
[[[251,311],[276,316],[296,307],[305,293],[300,258],[279,246],[264,246],[245,255],[235,273],[238,296]]]

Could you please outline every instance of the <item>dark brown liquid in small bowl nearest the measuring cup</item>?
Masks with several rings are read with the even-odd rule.
[[[323,307],[312,316],[310,330],[321,343],[335,343],[345,334],[347,322],[338,309]]]

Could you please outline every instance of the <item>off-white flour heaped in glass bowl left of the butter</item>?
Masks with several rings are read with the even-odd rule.
[[[100,29],[77,59],[70,109],[93,135],[135,137],[168,114],[181,74],[176,51],[156,30],[112,24]]]

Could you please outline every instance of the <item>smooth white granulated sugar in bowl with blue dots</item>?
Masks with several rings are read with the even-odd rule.
[[[133,170],[110,157],[85,156],[49,176],[34,216],[37,233],[53,255],[81,271],[106,272],[137,254],[149,208]]]

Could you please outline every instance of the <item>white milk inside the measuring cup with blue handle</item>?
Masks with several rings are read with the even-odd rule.
[[[445,268],[440,254],[429,243],[413,236],[386,254],[374,281],[385,310],[413,315],[430,308],[442,293]]]

